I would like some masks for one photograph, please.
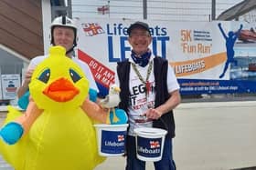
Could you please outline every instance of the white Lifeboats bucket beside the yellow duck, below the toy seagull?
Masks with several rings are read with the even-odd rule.
[[[99,155],[123,155],[128,124],[123,125],[94,125],[97,131]]]

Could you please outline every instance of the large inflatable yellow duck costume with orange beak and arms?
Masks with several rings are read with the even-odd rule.
[[[9,107],[0,152],[16,170],[91,170],[105,159],[98,155],[92,120],[106,122],[107,115],[86,99],[86,75],[65,53],[51,47],[37,65],[25,114]]]

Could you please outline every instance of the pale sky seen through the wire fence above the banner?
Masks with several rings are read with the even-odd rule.
[[[147,0],[147,19],[168,21],[210,21],[212,0]],[[242,0],[216,0],[216,18]],[[102,5],[110,13],[98,13]],[[144,19],[143,0],[72,0],[72,17]]]

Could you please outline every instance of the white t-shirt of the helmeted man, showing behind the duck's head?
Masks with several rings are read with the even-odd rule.
[[[36,66],[39,65],[47,57],[48,57],[48,55],[40,55],[40,56],[33,58],[30,61],[29,65],[27,66],[27,70],[35,69]],[[74,56],[72,56],[72,60],[76,64],[80,65],[80,68],[83,70],[84,74],[86,75],[87,79],[90,82],[90,88],[99,92],[98,86],[95,83],[95,80],[91,74],[91,70],[90,70],[89,66],[86,63],[82,62],[79,58],[76,58]]]

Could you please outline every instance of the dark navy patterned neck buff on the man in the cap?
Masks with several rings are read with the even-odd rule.
[[[150,59],[150,56],[151,56],[151,50],[148,49],[143,55],[136,55],[135,52],[132,50],[131,56],[132,56],[133,62],[135,64],[144,67],[149,62],[149,59]]]

